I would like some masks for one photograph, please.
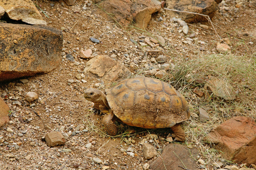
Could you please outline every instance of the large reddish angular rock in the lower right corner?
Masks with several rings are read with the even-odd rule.
[[[233,117],[213,129],[205,141],[214,143],[225,159],[256,164],[256,124],[250,117]]]

